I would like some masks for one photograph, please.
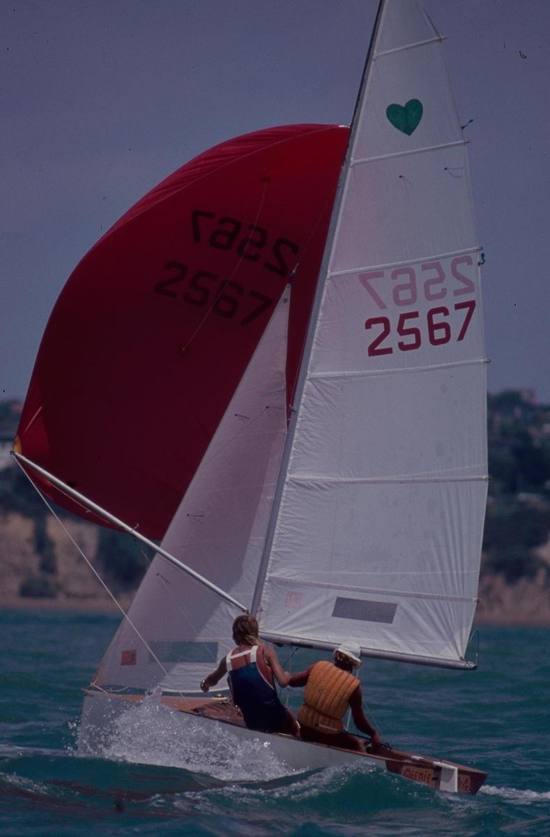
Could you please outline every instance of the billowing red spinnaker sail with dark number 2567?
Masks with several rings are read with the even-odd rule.
[[[348,133],[239,136],[125,213],[53,308],[19,424],[23,454],[162,537],[295,272],[290,403]]]

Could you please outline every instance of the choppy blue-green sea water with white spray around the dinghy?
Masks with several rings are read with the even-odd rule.
[[[550,630],[483,628],[479,668],[367,660],[368,714],[384,741],[489,773],[475,797],[369,768],[294,772],[270,748],[186,729],[150,696],[102,752],[82,754],[83,689],[113,616],[0,612],[0,834],[13,837],[412,837],[550,834]],[[299,651],[283,665],[314,658]],[[291,706],[299,701],[292,695]]]

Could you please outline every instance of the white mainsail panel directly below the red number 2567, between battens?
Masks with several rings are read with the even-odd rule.
[[[292,475],[486,475],[485,364],[308,381]],[[391,427],[391,432],[389,430]]]

